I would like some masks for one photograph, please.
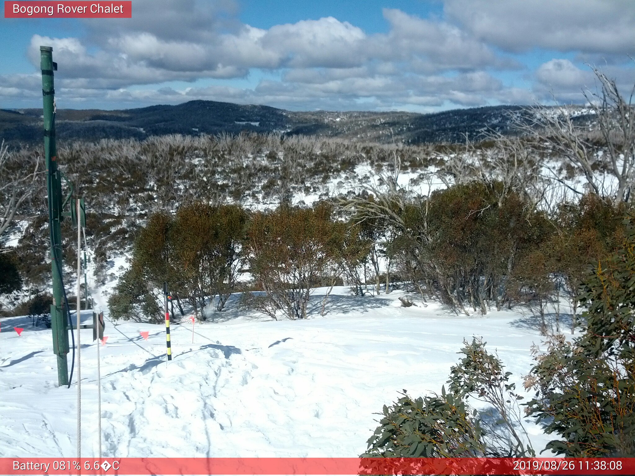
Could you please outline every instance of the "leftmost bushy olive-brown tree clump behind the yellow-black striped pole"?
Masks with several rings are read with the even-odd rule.
[[[198,314],[206,300],[217,298],[222,310],[243,262],[247,223],[239,206],[200,202],[181,207],[174,217],[151,215],[135,241],[131,268],[109,300],[111,315],[161,321],[157,298],[164,281],[177,305],[184,298]]]

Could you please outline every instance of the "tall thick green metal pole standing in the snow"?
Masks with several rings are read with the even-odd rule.
[[[57,169],[55,148],[55,89],[53,89],[53,48],[40,46],[40,68],[42,70],[42,94],[44,102],[44,154],[46,155],[46,187],[48,192],[48,218],[51,237],[51,272],[53,273],[53,304],[51,305],[51,328],[53,352],[57,355],[57,379],[60,387],[69,384],[69,334],[64,314],[62,296],[62,177]]]

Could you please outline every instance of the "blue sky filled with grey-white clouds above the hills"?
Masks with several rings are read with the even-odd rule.
[[[133,0],[131,19],[0,22],[3,108],[41,107],[40,44],[59,107],[74,109],[434,112],[580,102],[589,65],[635,82],[630,0]]]

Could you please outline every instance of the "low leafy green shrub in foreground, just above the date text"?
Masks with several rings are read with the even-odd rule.
[[[397,402],[384,406],[380,425],[362,457],[534,456],[531,445],[525,445],[516,432],[523,425],[516,404],[519,397],[509,383],[511,373],[503,373],[502,362],[486,352],[482,341],[464,344],[460,353],[465,357],[451,368],[450,392],[442,387],[441,395],[413,400],[404,390]],[[488,413],[484,418],[471,409],[469,398],[490,404],[498,421],[490,423]]]

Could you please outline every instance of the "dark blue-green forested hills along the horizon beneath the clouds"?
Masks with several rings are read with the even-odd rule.
[[[185,135],[282,133],[318,135],[364,142],[464,142],[488,129],[509,131],[509,115],[519,106],[456,109],[435,114],[411,112],[291,112],[262,105],[190,101],[140,109],[58,109],[60,140]],[[41,109],[0,110],[0,138],[10,143],[41,142]]]

